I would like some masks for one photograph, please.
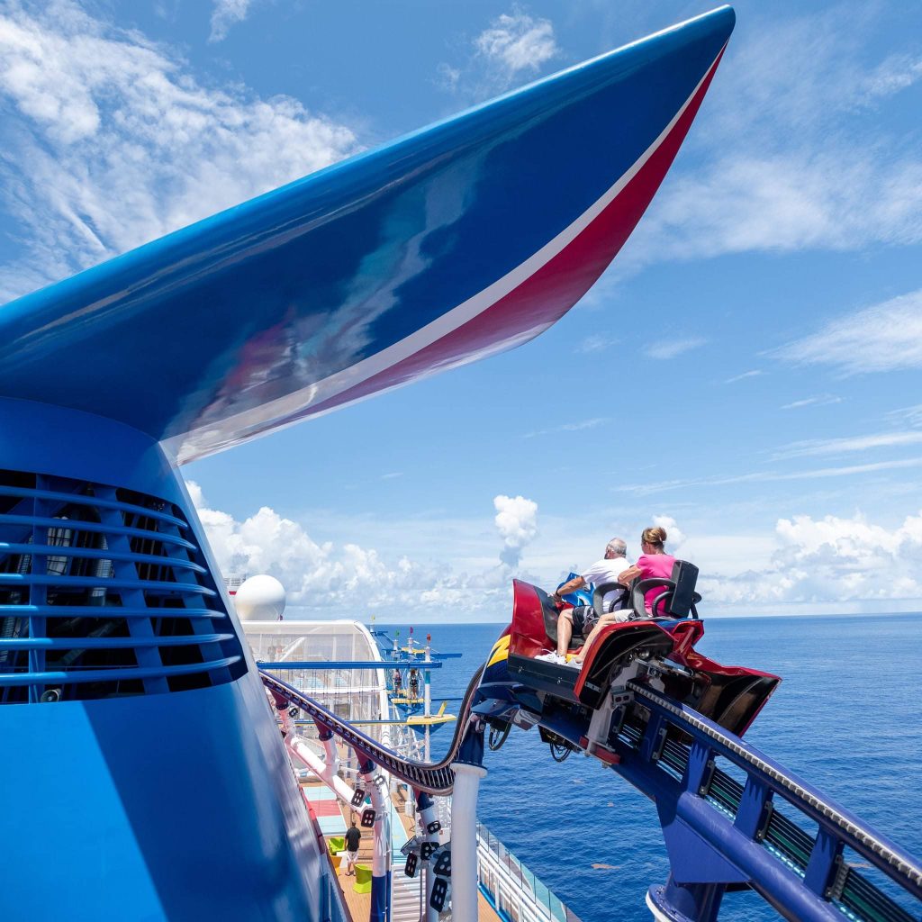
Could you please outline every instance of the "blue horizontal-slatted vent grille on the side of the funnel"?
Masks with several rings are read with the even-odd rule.
[[[183,691],[245,670],[178,506],[0,470],[0,703]]]

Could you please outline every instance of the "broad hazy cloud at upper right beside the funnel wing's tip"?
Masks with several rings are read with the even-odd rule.
[[[919,62],[869,63],[861,36],[876,15],[850,5],[766,18],[730,43],[689,138],[701,156],[680,158],[621,272],[664,258],[922,241],[922,158],[878,112],[918,79]]]

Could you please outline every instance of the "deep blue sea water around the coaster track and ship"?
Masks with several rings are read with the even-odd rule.
[[[747,739],[922,856],[922,643],[919,616],[722,618],[698,648],[783,682]],[[435,649],[433,702],[463,694],[499,624],[417,625]],[[398,630],[406,636],[406,627]],[[450,741],[433,737],[433,755]],[[585,922],[648,922],[644,894],[668,874],[652,802],[594,759],[553,762],[538,732],[513,730],[486,754],[479,816]],[[600,865],[602,867],[594,867]],[[721,919],[777,919],[752,892],[727,894]]]

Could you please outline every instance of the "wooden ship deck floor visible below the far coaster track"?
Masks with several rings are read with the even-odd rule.
[[[318,783],[307,783],[301,785],[304,797],[311,805],[312,820],[314,825],[319,827],[324,840],[324,851],[326,860],[332,869],[332,877],[337,881],[337,887],[342,897],[342,903],[349,912],[352,922],[367,922],[371,915],[372,897],[370,893],[355,892],[355,878],[346,876],[345,865],[339,867],[337,858],[331,857],[329,848],[326,846],[327,840],[333,835],[340,835],[349,828],[349,822],[353,817],[358,821],[358,815],[347,804],[339,800],[331,800],[327,794],[327,788]],[[392,816],[399,817],[403,823],[404,832],[407,837],[411,837],[416,831],[413,828],[413,820],[405,812],[405,798],[402,792],[394,793],[391,796],[395,810]],[[341,824],[337,822],[341,820]],[[333,830],[337,831],[334,832]],[[327,832],[329,830],[329,832]],[[368,830],[362,830],[361,844],[359,845],[359,864],[372,867],[372,835]],[[399,871],[397,872],[399,873]],[[419,878],[418,878],[419,880]],[[478,893],[478,919],[479,922],[502,922],[491,904],[484,899],[482,893]]]

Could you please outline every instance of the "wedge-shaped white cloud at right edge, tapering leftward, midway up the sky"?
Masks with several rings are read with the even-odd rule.
[[[772,354],[845,374],[922,368],[922,289],[833,320]]]

